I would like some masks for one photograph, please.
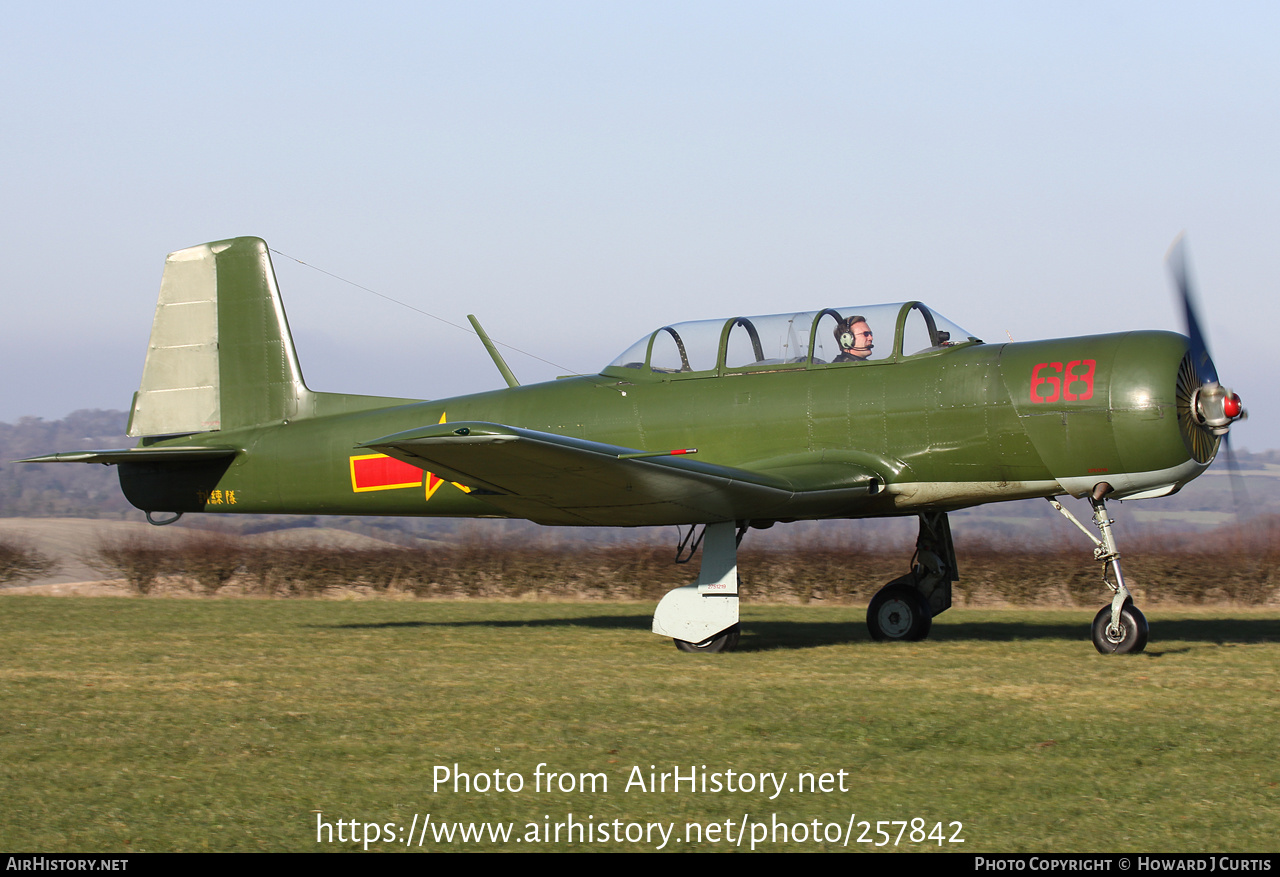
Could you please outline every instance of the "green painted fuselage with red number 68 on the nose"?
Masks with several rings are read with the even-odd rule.
[[[792,478],[797,489],[808,487],[805,478],[820,481],[827,465],[855,465],[881,479],[859,502],[818,503],[780,520],[1084,495],[1098,481],[1110,483],[1117,498],[1161,495],[1203,471],[1212,456],[1211,448],[1197,460],[1179,424],[1187,350],[1181,335],[1133,332],[736,371],[611,366],[599,375],[431,402],[311,393],[307,412],[293,419],[147,439],[151,448],[207,444],[238,453],[182,465],[122,462],[120,483],[147,511],[506,516],[483,494],[452,483],[431,490],[425,474],[420,484],[360,483],[356,467],[375,455],[358,446],[443,420],[640,452],[696,448],[699,462],[800,472]],[[675,520],[681,517],[696,520]],[[705,517],[660,508],[652,520],[588,522]]]

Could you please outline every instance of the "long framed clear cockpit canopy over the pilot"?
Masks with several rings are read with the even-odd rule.
[[[858,342],[863,347],[842,356],[837,335],[849,330],[851,318],[863,318],[859,323],[865,323],[872,332],[869,355],[865,342]],[[859,330],[859,326],[854,329]],[[828,365],[840,367],[925,356],[969,343],[982,342],[918,301],[827,307],[799,314],[667,325],[634,343],[604,371],[707,376]]]

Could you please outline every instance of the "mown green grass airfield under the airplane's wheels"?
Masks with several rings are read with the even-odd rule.
[[[316,812],[507,821],[513,837],[570,813],[673,822],[681,836],[686,821],[736,831],[744,814],[841,827],[856,814],[873,835],[876,821],[920,818],[963,822],[965,842],[943,849],[965,853],[1265,851],[1280,832],[1276,611],[1153,607],[1146,654],[1101,657],[1093,608],[952,609],[929,641],[881,645],[859,608],[749,607],[739,652],[690,656],[646,632],[652,604],[0,607],[6,850],[353,848],[317,845]],[[454,763],[526,787],[434,791],[435,768]],[[608,793],[536,793],[539,763],[603,772]],[[703,764],[785,771],[788,789],[801,771],[846,771],[849,790],[623,791],[634,766]]]

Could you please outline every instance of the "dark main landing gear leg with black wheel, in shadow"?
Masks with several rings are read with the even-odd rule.
[[[879,641],[914,641],[929,635],[933,616],[951,608],[956,552],[946,512],[920,515],[911,571],[888,583],[867,607],[867,629]]]

